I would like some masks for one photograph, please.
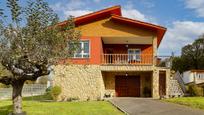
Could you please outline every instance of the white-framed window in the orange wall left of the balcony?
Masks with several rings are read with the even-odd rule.
[[[74,53],[74,58],[89,58],[89,41],[80,41],[79,49]]]

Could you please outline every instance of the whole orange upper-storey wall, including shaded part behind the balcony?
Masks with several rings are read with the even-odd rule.
[[[101,54],[107,53],[111,49],[114,54],[127,54],[128,48],[139,48],[142,54],[153,54],[152,45],[128,45],[125,44],[103,44],[101,37],[83,36],[81,40],[89,40],[90,57],[89,58],[72,58],[70,61],[73,64],[101,64]]]

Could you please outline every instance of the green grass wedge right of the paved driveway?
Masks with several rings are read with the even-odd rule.
[[[204,109],[204,97],[182,97],[165,99],[167,102],[190,106],[192,108]]]

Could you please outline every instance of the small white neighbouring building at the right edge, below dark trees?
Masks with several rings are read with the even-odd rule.
[[[183,73],[185,84],[204,85],[204,70],[189,70]]]

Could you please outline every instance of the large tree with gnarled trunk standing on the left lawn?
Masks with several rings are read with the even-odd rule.
[[[19,114],[24,82],[48,75],[50,65],[70,57],[80,32],[72,17],[66,25],[57,25],[57,14],[44,0],[28,0],[25,7],[19,0],[7,0],[7,8],[7,17],[0,10],[0,61],[12,74],[0,76],[0,83],[13,87],[13,113]],[[74,44],[68,48],[69,43]]]

